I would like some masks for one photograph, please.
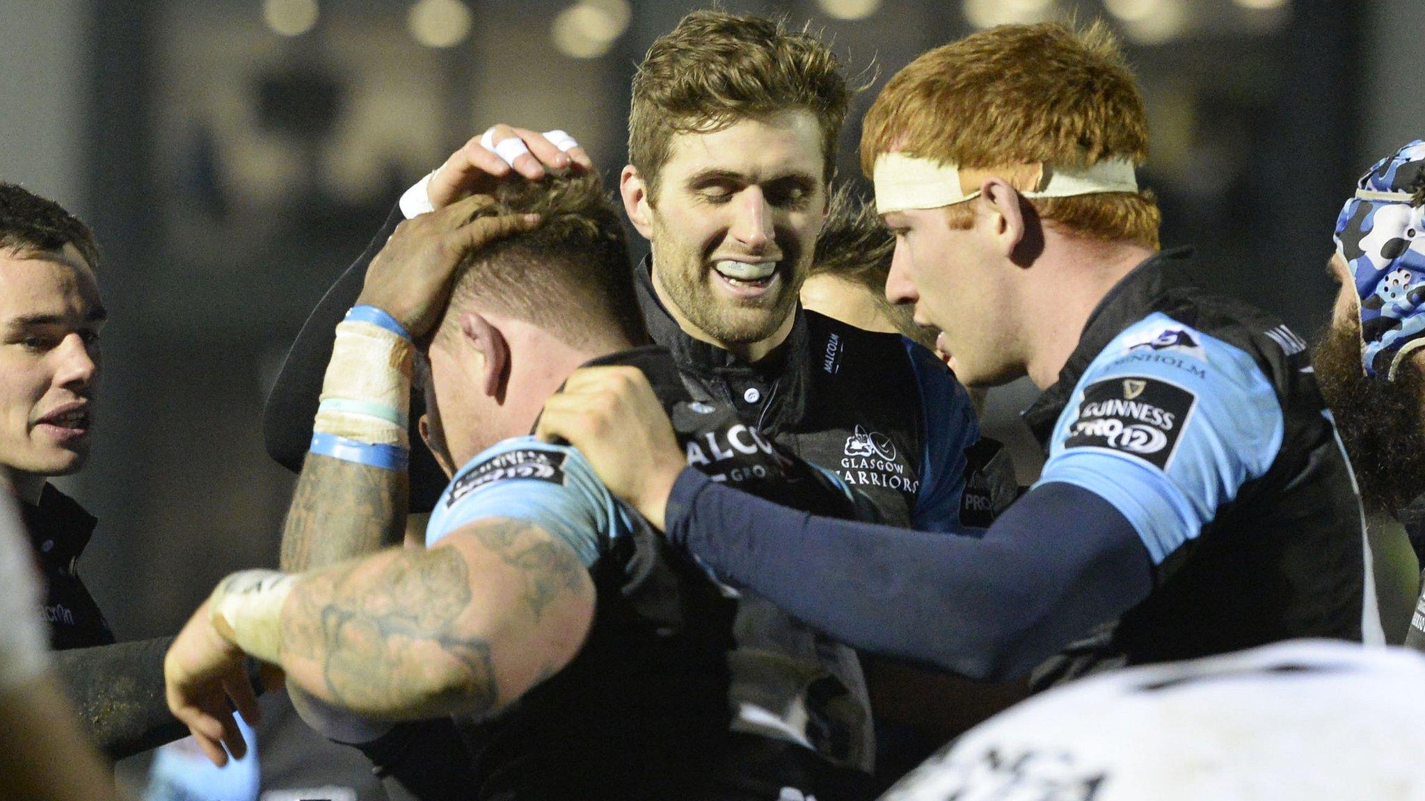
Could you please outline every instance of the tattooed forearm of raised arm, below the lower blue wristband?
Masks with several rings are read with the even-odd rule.
[[[308,453],[282,529],[282,570],[326,567],[402,540],[405,473]]]

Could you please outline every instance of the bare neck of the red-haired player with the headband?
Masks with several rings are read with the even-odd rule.
[[[1059,381],[1089,315],[1104,295],[1156,251],[1133,242],[1103,242],[1079,237],[1059,239],[1035,262],[1045,272],[1029,289],[1030,331],[1026,372],[1035,386],[1047,389]]]

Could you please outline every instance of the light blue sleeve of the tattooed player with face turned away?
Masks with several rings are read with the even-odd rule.
[[[584,456],[533,436],[506,439],[470,460],[440,493],[426,546],[484,517],[529,520],[593,564],[627,524]]]

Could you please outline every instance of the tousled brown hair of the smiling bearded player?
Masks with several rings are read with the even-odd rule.
[[[712,133],[741,120],[805,110],[821,128],[824,178],[851,90],[836,56],[809,30],[781,20],[693,11],[648,48],[633,78],[628,162],[657,195],[673,134]]]

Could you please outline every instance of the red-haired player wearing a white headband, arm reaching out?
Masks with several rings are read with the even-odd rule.
[[[1042,687],[1291,637],[1381,641],[1361,502],[1305,346],[1159,252],[1146,154],[1102,24],[931,50],[866,115],[862,165],[896,234],[888,296],[942,329],[966,382],[1045,391],[1025,412],[1042,479],[983,539],[821,520],[685,472],[627,371],[571,376],[540,432],[732,586],[972,677]]]

